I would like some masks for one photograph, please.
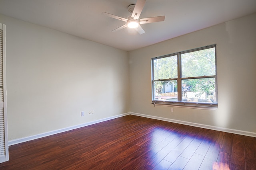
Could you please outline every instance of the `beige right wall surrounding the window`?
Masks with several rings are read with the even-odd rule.
[[[218,109],[151,104],[151,58],[217,44]],[[256,133],[256,14],[129,53],[130,111]]]

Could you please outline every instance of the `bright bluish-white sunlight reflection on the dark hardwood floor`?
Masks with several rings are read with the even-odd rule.
[[[212,141],[211,135],[206,135],[205,133],[198,134],[196,132],[196,135],[194,133],[186,133],[186,129],[184,128],[186,127],[180,127],[179,130],[164,128],[154,129],[151,136],[151,142],[156,145],[152,148],[151,154],[154,154],[155,160],[162,160],[162,163],[164,161],[164,166],[166,166],[166,162],[168,162],[168,166],[170,166],[170,164],[174,164],[176,159],[178,160],[178,158],[182,156],[182,158],[189,160],[187,162],[188,166],[186,166],[185,169],[190,169],[190,166],[192,165],[194,168],[196,166],[198,166],[198,168],[202,166],[202,162],[200,161],[197,162],[198,165],[194,165],[194,161],[196,161],[196,156],[198,155],[207,158],[211,155],[218,157],[220,145]],[[208,163],[204,162],[204,166],[202,167],[209,168],[213,163],[213,170],[230,170],[229,164],[225,162],[217,161]],[[209,166],[207,166],[207,164]],[[158,166],[160,166],[160,164]]]

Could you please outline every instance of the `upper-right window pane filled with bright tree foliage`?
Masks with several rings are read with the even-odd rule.
[[[215,48],[181,55],[182,78],[216,75]]]

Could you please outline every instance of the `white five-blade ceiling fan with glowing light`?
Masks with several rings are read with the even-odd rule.
[[[143,34],[143,33],[145,33],[145,31],[142,29],[140,24],[164,21],[164,18],[165,18],[165,16],[140,18],[140,14],[143,10],[143,7],[144,7],[145,3],[146,3],[146,0],[137,0],[135,5],[134,4],[129,5],[128,6],[128,11],[130,13],[132,13],[132,15],[128,19],[122,18],[122,17],[119,17],[119,16],[115,16],[113,14],[109,14],[109,13],[106,13],[106,12],[103,12],[102,14],[104,14],[106,16],[109,16],[111,18],[126,22],[126,24],[112,30],[112,32],[118,31],[118,30],[123,29],[125,27],[129,27],[129,28],[136,29],[136,31],[138,31],[138,33],[140,33],[140,34]]]

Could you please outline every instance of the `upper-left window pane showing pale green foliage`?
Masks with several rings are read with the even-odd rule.
[[[154,80],[177,78],[177,55],[154,60]]]

